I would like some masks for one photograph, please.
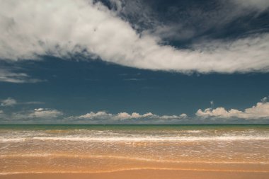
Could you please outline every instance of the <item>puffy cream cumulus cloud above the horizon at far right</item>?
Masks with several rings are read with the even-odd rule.
[[[241,118],[245,120],[269,119],[269,102],[267,102],[267,98],[263,98],[261,101],[262,102],[253,105],[251,108],[246,108],[244,111],[236,109],[226,110],[225,108],[219,107],[215,109],[199,109],[196,112],[196,115],[205,118]]]

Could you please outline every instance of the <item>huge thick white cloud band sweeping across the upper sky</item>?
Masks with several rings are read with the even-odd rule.
[[[0,31],[1,59],[37,59],[45,54],[68,58],[82,53],[141,69],[269,71],[268,34],[176,50],[159,45],[159,37],[137,34],[114,11],[91,0],[1,0]]]

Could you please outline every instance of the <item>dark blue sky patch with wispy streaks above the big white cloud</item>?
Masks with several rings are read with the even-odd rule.
[[[214,38],[214,34],[227,29],[229,23],[239,18],[252,16],[249,19],[252,21],[269,7],[266,0],[205,1],[202,4],[199,1],[195,3],[173,1],[167,4],[142,0],[110,0],[110,2],[115,7],[118,16],[130,21],[137,31],[161,38],[162,44],[169,40],[177,40],[183,45],[187,43],[188,47],[201,37]],[[159,8],[162,9],[161,13],[158,11]],[[244,28],[240,24],[237,25],[241,29],[240,35],[244,35],[246,33],[244,30],[248,30],[249,24]],[[257,23],[256,27],[258,27]],[[213,35],[210,35],[208,31],[211,31]],[[251,31],[251,33],[259,32],[259,30]]]

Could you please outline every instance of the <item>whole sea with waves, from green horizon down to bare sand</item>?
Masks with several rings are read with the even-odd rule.
[[[268,172],[269,125],[0,125],[1,175],[219,166]]]

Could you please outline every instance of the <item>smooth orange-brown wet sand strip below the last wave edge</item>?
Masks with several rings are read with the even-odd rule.
[[[12,175],[0,175],[0,178],[4,179],[163,179],[163,178],[181,178],[181,179],[267,179],[269,177],[268,172],[248,172],[248,171],[185,171],[185,170],[127,170],[127,171],[115,171],[107,173],[25,173],[25,174],[12,174]]]

